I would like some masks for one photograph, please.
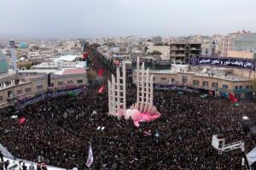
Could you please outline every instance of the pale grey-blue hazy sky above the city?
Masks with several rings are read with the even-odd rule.
[[[0,1],[0,36],[181,36],[256,31],[256,0]]]

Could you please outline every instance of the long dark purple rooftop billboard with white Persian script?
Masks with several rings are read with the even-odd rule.
[[[212,57],[203,55],[190,56],[189,65],[210,65],[255,70],[255,61],[253,59]]]

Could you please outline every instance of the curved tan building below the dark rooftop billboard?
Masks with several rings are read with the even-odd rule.
[[[238,99],[253,99],[253,81],[234,75],[212,75],[209,73],[149,71],[154,85],[172,85],[200,89],[212,95],[234,94]],[[133,79],[136,78],[136,71]]]

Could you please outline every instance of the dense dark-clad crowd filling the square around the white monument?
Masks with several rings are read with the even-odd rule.
[[[18,158],[63,168],[86,169],[89,142],[91,169],[242,169],[241,150],[219,155],[212,134],[225,143],[244,140],[255,146],[241,128],[241,117],[253,118],[256,105],[234,105],[228,99],[170,90],[154,90],[161,113],[154,122],[140,123],[108,116],[108,93],[90,87],[77,96],[46,98],[18,111],[0,115],[1,143]],[[127,88],[127,105],[135,103],[136,88]],[[104,128],[99,128],[104,127]],[[145,135],[146,132],[146,135]],[[149,133],[150,132],[150,133]]]

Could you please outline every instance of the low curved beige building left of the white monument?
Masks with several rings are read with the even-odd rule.
[[[40,72],[20,72],[14,75],[6,75],[1,78],[0,84],[0,108],[15,105],[22,99],[29,99],[38,94],[49,91],[58,91],[84,87],[87,84],[85,69],[70,69],[49,73]]]

